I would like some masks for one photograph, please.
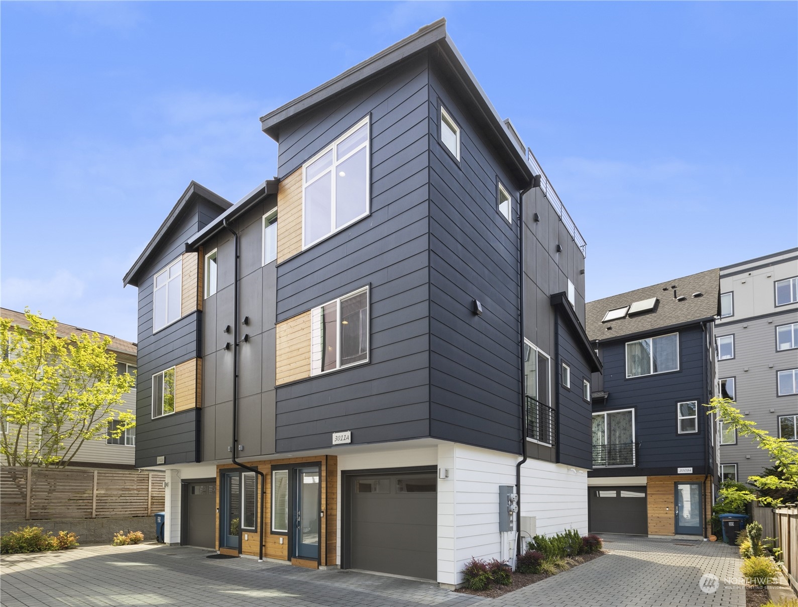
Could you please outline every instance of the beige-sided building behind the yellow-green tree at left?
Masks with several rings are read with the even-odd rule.
[[[11,319],[18,327],[28,327],[25,314],[22,312],[0,308],[2,318]],[[90,329],[73,327],[73,325],[58,323],[57,335],[69,337],[73,333],[93,333]],[[105,333],[100,333],[105,336]],[[113,335],[109,351],[117,355],[117,370],[120,373],[136,375],[136,344],[119,339]],[[117,407],[118,411],[136,411],[136,387],[122,395],[123,403]],[[136,462],[136,428],[124,430],[120,438],[108,437],[105,441],[86,441],[70,463],[71,466],[90,466],[101,468],[133,468]]]

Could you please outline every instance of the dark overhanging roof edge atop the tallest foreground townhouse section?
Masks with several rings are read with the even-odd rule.
[[[476,77],[460,51],[454,46],[452,38],[446,33],[446,19],[444,18],[422,27],[415,34],[381,50],[373,57],[361,61],[358,65],[338,74],[315,89],[267,113],[260,119],[261,128],[269,137],[278,141],[279,127],[283,121],[313,109],[324,101],[341,95],[361,82],[373,78],[377,73],[425,50],[437,51],[437,58],[451,70],[454,81],[464,90],[465,94],[460,97],[460,101],[474,113],[477,119],[481,118],[483,124],[487,126],[485,133],[496,145],[499,153],[508,161],[508,165],[515,169],[524,181],[531,181],[533,175],[531,166],[527,163],[526,150],[519,148],[516,137],[513,137],[508,125],[501,120],[496,108],[488,99],[488,95],[476,81]]]

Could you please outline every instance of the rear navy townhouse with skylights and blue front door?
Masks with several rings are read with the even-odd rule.
[[[718,271],[587,303],[594,375],[590,528],[706,537],[717,441],[706,415],[715,384]]]

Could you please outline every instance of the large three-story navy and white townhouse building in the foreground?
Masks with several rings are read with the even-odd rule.
[[[584,241],[444,21],[261,123],[279,177],[124,276],[167,542],[456,585],[587,532]]]

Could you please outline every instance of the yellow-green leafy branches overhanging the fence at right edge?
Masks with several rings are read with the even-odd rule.
[[[704,406],[709,408],[710,414],[717,415],[717,419],[736,428],[737,434],[753,438],[760,449],[768,451],[773,466],[765,469],[761,476],[749,476],[748,480],[759,492],[757,502],[763,506],[779,506],[781,498],[771,497],[773,494],[791,494],[798,490],[798,445],[760,430],[756,422],[745,419],[735,404],[732,399],[716,396]]]

